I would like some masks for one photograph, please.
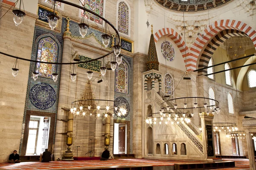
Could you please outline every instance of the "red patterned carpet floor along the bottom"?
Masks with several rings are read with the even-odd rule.
[[[125,160],[125,161],[124,161]],[[224,159],[228,161],[235,161],[236,167],[223,168],[218,170],[249,170],[248,159]],[[93,167],[109,167],[109,166],[172,166],[175,163],[188,163],[200,161],[179,161],[179,160],[163,160],[163,159],[113,159],[108,161],[52,161],[49,163],[41,162],[21,162],[20,164],[0,163],[0,170],[60,170],[60,169],[82,169]]]

